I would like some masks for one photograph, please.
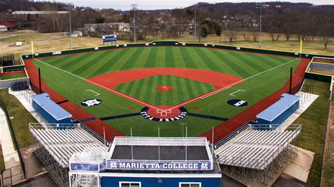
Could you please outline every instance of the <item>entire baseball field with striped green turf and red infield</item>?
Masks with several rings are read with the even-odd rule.
[[[158,129],[160,136],[185,136],[185,126],[187,136],[201,136],[224,127],[281,89],[290,68],[302,63],[301,58],[185,46],[25,60],[32,82],[39,67],[43,91],[75,119],[107,124],[125,135],[132,129],[132,136],[158,136]]]

